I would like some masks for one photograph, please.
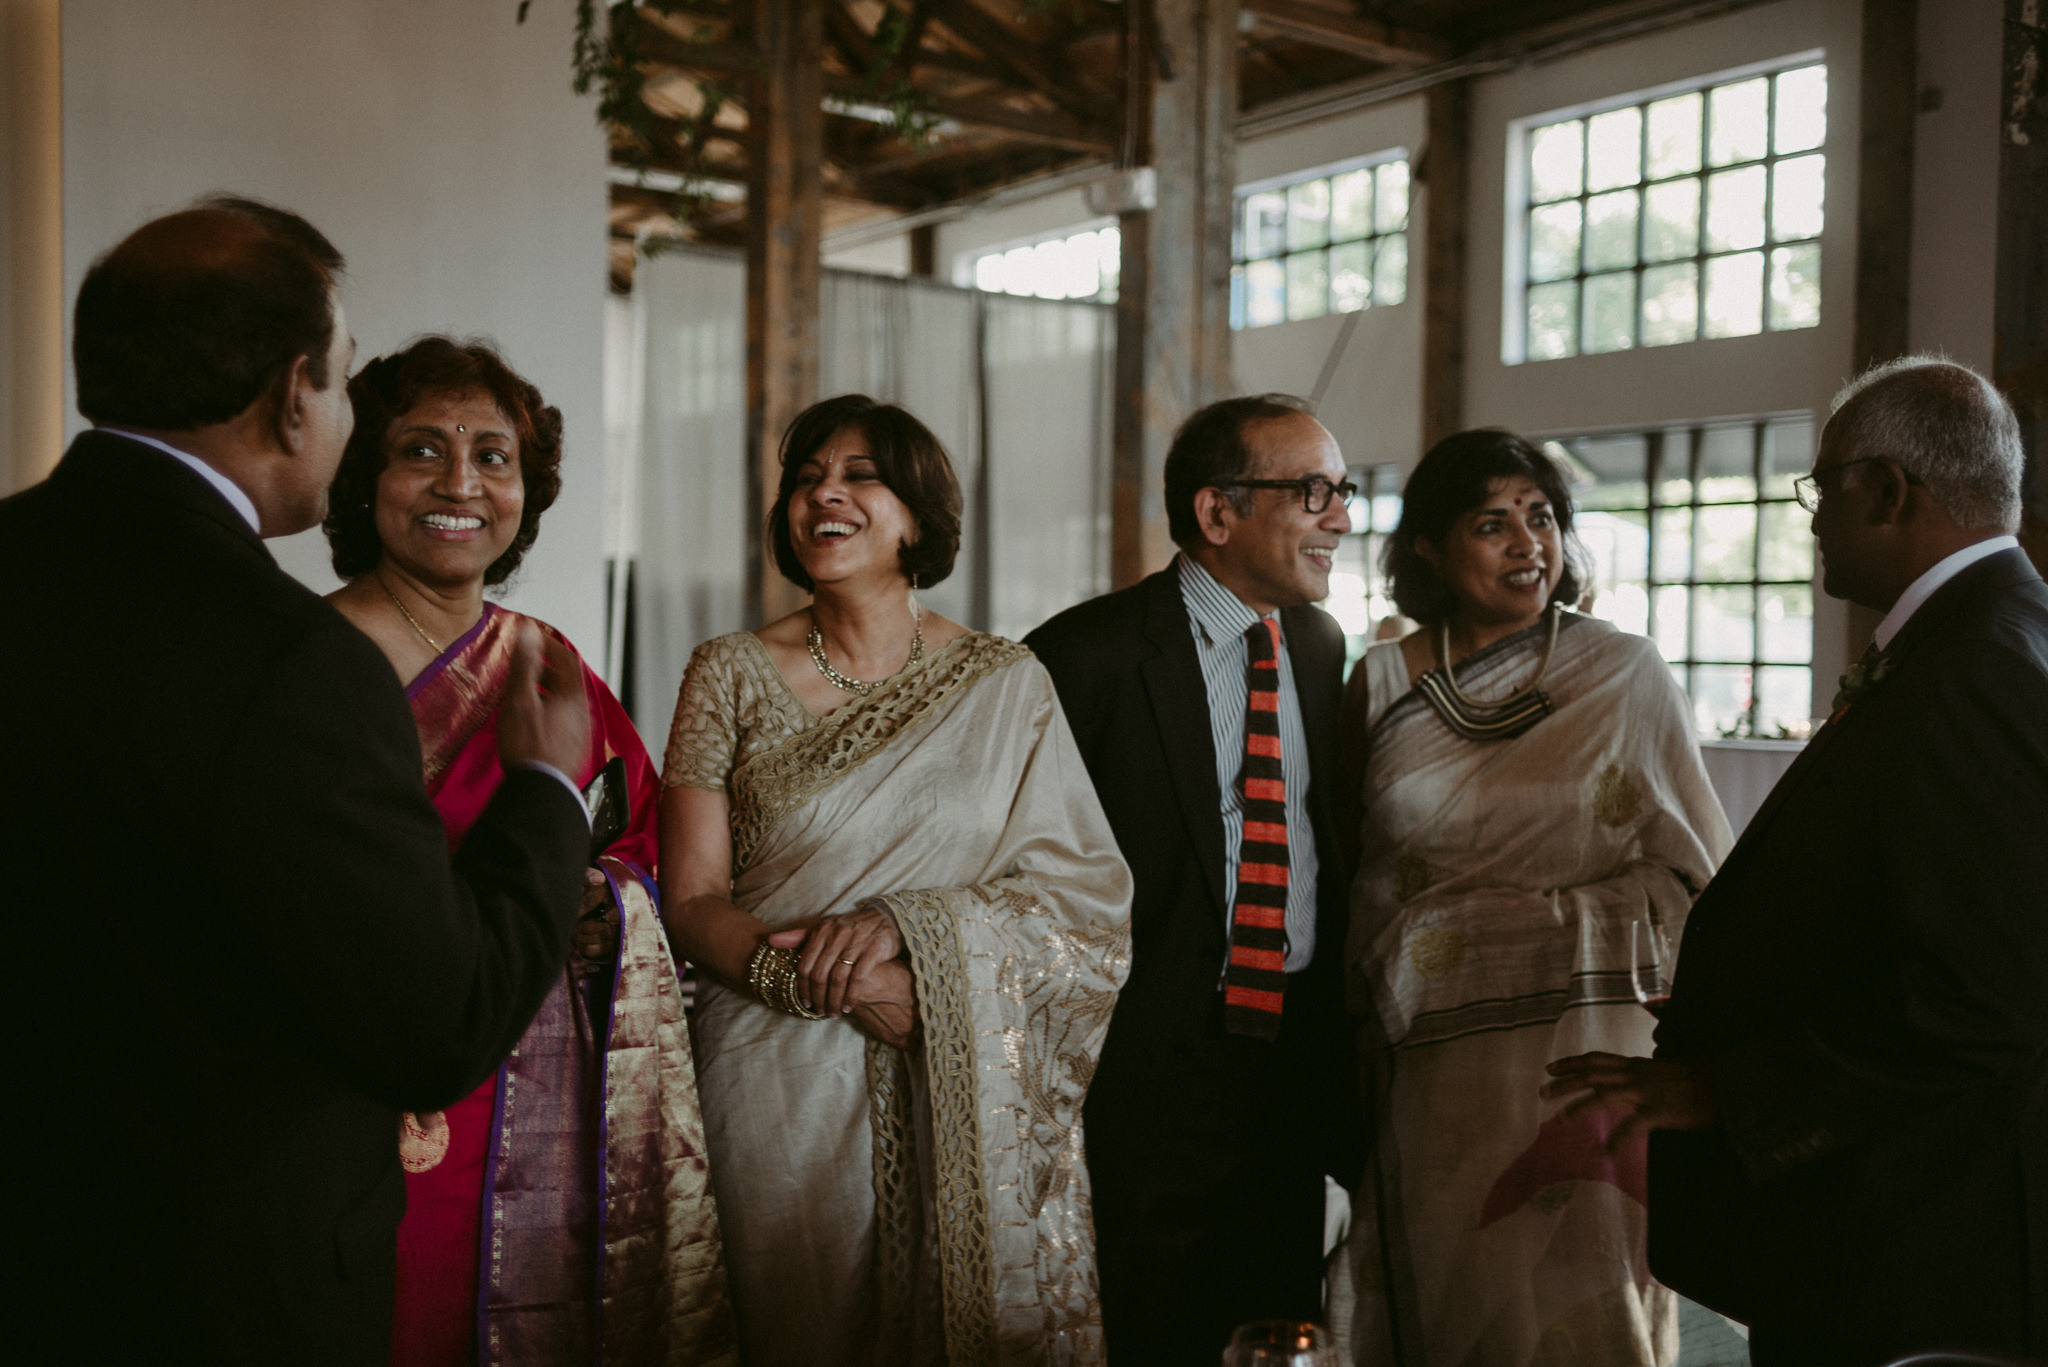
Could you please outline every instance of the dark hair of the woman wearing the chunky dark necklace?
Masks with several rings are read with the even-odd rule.
[[[1571,607],[1579,600],[1585,572],[1585,551],[1571,531],[1571,486],[1556,461],[1542,447],[1497,426],[1456,432],[1430,447],[1401,490],[1401,521],[1386,539],[1380,568],[1393,584],[1395,607],[1405,617],[1436,625],[1458,607],[1444,576],[1415,549],[1417,539],[1442,547],[1450,525],[1487,500],[1501,480],[1526,475],[1550,500],[1565,570],[1556,578],[1550,603]]]

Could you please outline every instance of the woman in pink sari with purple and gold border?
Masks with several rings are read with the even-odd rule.
[[[461,846],[496,791],[518,613],[483,600],[561,488],[561,414],[479,342],[420,338],[348,385],[354,437],[326,521],[332,603],[412,703],[422,775]],[[559,639],[559,633],[555,633]],[[588,785],[625,769],[561,980],[467,1096],[406,1115],[391,1361],[711,1363],[731,1357],[719,1226],[676,965],[657,916],[659,779],[584,666]]]

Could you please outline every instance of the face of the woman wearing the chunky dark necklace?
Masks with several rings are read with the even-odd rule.
[[[1528,475],[1495,480],[1452,521],[1444,545],[1417,537],[1415,551],[1456,600],[1452,619],[1468,627],[1534,625],[1565,574],[1550,496]]]

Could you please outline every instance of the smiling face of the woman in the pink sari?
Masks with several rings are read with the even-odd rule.
[[[410,578],[481,582],[526,510],[518,434],[489,393],[430,393],[391,420],[377,478],[377,537]]]

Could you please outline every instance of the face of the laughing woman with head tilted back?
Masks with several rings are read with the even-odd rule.
[[[866,432],[842,426],[797,465],[788,498],[788,539],[813,584],[856,576],[903,574],[901,547],[918,537],[918,521],[883,484]]]

